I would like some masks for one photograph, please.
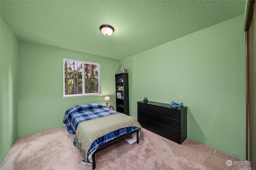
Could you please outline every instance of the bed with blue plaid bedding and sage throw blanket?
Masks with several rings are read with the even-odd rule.
[[[78,105],[68,109],[63,119],[68,135],[76,135],[74,145],[81,150],[83,164],[96,168],[95,154],[116,141],[139,143],[142,127],[136,119],[100,104]]]

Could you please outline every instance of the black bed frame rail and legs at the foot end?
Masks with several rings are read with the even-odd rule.
[[[136,132],[137,132],[137,143],[139,143],[139,130],[140,129],[137,129]],[[108,143],[105,143],[103,145],[101,145],[100,147],[98,147],[94,153],[92,154],[92,169],[94,170],[96,168],[96,153],[97,152],[100,152],[101,150],[103,149],[106,149],[107,147],[110,147],[111,145],[114,145],[116,142],[120,141],[121,139],[124,139],[130,135],[132,135],[132,133],[135,133],[134,131],[130,132],[130,133],[126,133],[124,135],[121,135],[120,137],[112,140],[112,141],[109,141]]]

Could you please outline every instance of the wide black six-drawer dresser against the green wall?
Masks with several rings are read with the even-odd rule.
[[[138,122],[162,137],[182,144],[187,138],[187,107],[171,107],[170,104],[138,103]]]

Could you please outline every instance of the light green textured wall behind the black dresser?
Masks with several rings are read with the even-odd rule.
[[[244,16],[121,61],[129,73],[130,115],[137,101],[183,102],[188,138],[246,158]],[[170,32],[172,33],[172,32]]]

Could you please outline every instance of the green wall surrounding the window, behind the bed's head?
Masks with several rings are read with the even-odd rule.
[[[102,96],[63,99],[63,58],[100,63]],[[106,105],[104,96],[114,104],[119,60],[19,40],[18,63],[19,136],[62,126],[65,111],[78,104]]]

